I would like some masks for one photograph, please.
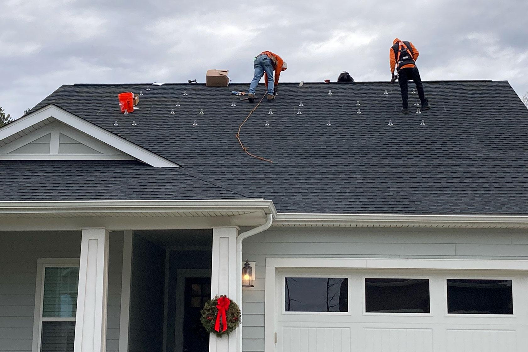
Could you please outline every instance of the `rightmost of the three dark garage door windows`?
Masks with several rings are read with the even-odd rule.
[[[447,280],[447,312],[513,314],[512,280]]]

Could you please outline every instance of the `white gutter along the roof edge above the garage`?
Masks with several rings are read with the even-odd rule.
[[[528,227],[528,215],[405,215],[279,213],[274,225]]]

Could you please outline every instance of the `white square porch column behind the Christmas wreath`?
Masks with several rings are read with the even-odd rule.
[[[237,297],[237,264],[240,264],[237,263],[238,230],[238,227],[213,228],[211,298],[225,294],[241,306],[242,300]],[[229,336],[217,338],[211,334],[209,352],[239,352],[241,338],[240,328]]]

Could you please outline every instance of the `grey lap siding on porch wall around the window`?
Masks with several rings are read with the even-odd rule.
[[[31,351],[37,258],[79,258],[81,232],[0,232],[0,351]],[[107,351],[119,345],[122,232],[110,234]]]

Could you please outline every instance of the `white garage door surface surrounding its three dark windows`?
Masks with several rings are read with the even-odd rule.
[[[347,278],[348,311],[286,312],[285,278],[287,277]],[[365,278],[428,279],[430,312],[365,312]],[[513,315],[448,314],[446,280],[457,278],[512,280]],[[346,271],[328,269],[326,272],[321,270],[314,272],[309,269],[303,271],[294,269],[277,271],[274,281],[276,281],[276,352],[526,352],[528,350],[526,349],[528,344],[528,299],[525,294],[528,292],[528,275],[526,273],[425,270],[412,270],[412,272],[402,270],[398,273],[372,269]],[[332,281],[329,279],[328,282]],[[297,284],[297,287],[303,285],[300,280]],[[302,287],[302,292],[309,291],[307,294],[320,295],[320,288],[314,288],[312,291],[312,286]],[[288,292],[293,292],[291,286]],[[341,292],[343,294],[345,291]],[[288,297],[290,299],[290,296]],[[326,297],[329,297],[328,293]],[[300,303],[296,307],[301,307]]]

